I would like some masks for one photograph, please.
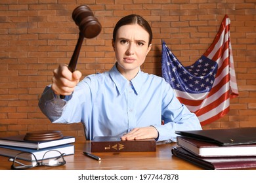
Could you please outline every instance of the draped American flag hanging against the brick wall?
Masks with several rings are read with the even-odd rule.
[[[201,58],[186,67],[165,42],[162,43],[162,76],[179,101],[198,116],[201,125],[227,114],[230,98],[238,96],[229,25],[226,15],[211,46]]]

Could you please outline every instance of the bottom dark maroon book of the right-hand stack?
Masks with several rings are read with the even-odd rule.
[[[174,156],[184,159],[203,169],[228,170],[228,169],[255,169],[256,156],[246,157],[199,157],[184,150],[181,147],[173,147],[171,152]]]

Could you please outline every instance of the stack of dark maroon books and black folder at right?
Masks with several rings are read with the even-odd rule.
[[[256,127],[176,131],[174,156],[203,169],[255,169]]]

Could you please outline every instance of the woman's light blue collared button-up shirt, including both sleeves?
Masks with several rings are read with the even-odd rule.
[[[158,141],[175,142],[176,130],[202,129],[196,115],[179,102],[163,78],[139,71],[129,81],[116,65],[105,73],[86,76],[65,99],[47,86],[39,107],[51,122],[82,122],[87,140],[121,137],[135,127],[152,125],[158,130]]]

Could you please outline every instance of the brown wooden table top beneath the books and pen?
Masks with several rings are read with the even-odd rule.
[[[180,158],[172,156],[171,148],[176,145],[160,144],[156,147],[156,152],[100,152],[93,153],[101,158],[101,161],[83,155],[83,151],[90,152],[90,143],[75,142],[75,154],[64,156],[66,165],[60,167],[35,167],[33,169],[54,169],[54,170],[198,170],[201,169],[192,163],[188,163]],[[0,156],[0,169],[10,169],[12,162],[9,158]]]

